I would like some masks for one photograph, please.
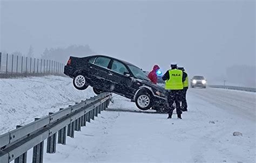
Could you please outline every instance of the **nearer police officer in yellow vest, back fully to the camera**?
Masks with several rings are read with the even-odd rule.
[[[181,118],[181,108],[180,108],[180,100],[181,93],[183,90],[183,82],[186,79],[186,74],[183,73],[182,70],[179,70],[177,67],[177,63],[171,64],[171,69],[167,70],[167,72],[163,75],[162,79],[165,82],[165,89],[168,91],[167,101],[169,104],[169,116],[168,118],[172,118],[173,110],[173,102],[176,104],[176,112],[179,119]]]

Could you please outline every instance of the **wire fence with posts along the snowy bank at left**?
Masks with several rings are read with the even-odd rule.
[[[0,52],[0,78],[18,76],[63,75],[64,64]]]

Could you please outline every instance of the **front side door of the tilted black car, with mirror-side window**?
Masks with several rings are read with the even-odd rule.
[[[114,84],[114,89],[112,91],[114,93],[130,97],[130,87],[132,84],[132,79],[130,76],[125,75],[130,73],[124,63],[113,59],[111,61],[109,73],[112,73],[112,75],[109,75],[109,77]]]

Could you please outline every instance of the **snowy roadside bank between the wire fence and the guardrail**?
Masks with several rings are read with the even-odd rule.
[[[93,95],[73,88],[68,77],[0,79],[0,134]]]

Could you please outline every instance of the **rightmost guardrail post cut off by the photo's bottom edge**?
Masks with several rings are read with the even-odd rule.
[[[37,121],[40,118],[35,118],[35,121]],[[33,147],[33,157],[32,157],[32,163],[43,163],[43,157],[44,157],[44,140]]]

